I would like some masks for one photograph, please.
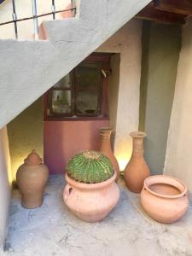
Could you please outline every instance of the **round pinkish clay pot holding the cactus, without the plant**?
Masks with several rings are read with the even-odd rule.
[[[105,218],[119,201],[119,188],[114,182],[116,172],[102,183],[79,183],[68,177],[63,192],[67,207],[86,222]]]

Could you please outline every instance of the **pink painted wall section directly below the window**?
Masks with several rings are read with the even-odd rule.
[[[44,121],[44,163],[49,172],[64,173],[68,160],[84,149],[99,149],[99,129],[108,119]]]

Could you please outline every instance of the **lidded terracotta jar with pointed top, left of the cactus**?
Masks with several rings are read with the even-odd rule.
[[[48,167],[32,150],[16,173],[16,182],[21,192],[21,205],[25,208],[36,208],[43,204],[44,187],[48,181]]]

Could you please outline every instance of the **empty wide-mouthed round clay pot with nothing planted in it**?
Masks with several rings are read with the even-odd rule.
[[[154,175],[144,181],[141,203],[151,218],[172,223],[187,211],[187,188],[175,177]]]

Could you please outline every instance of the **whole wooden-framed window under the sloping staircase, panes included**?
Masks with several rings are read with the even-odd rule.
[[[108,118],[110,55],[93,54],[44,96],[46,119]]]

